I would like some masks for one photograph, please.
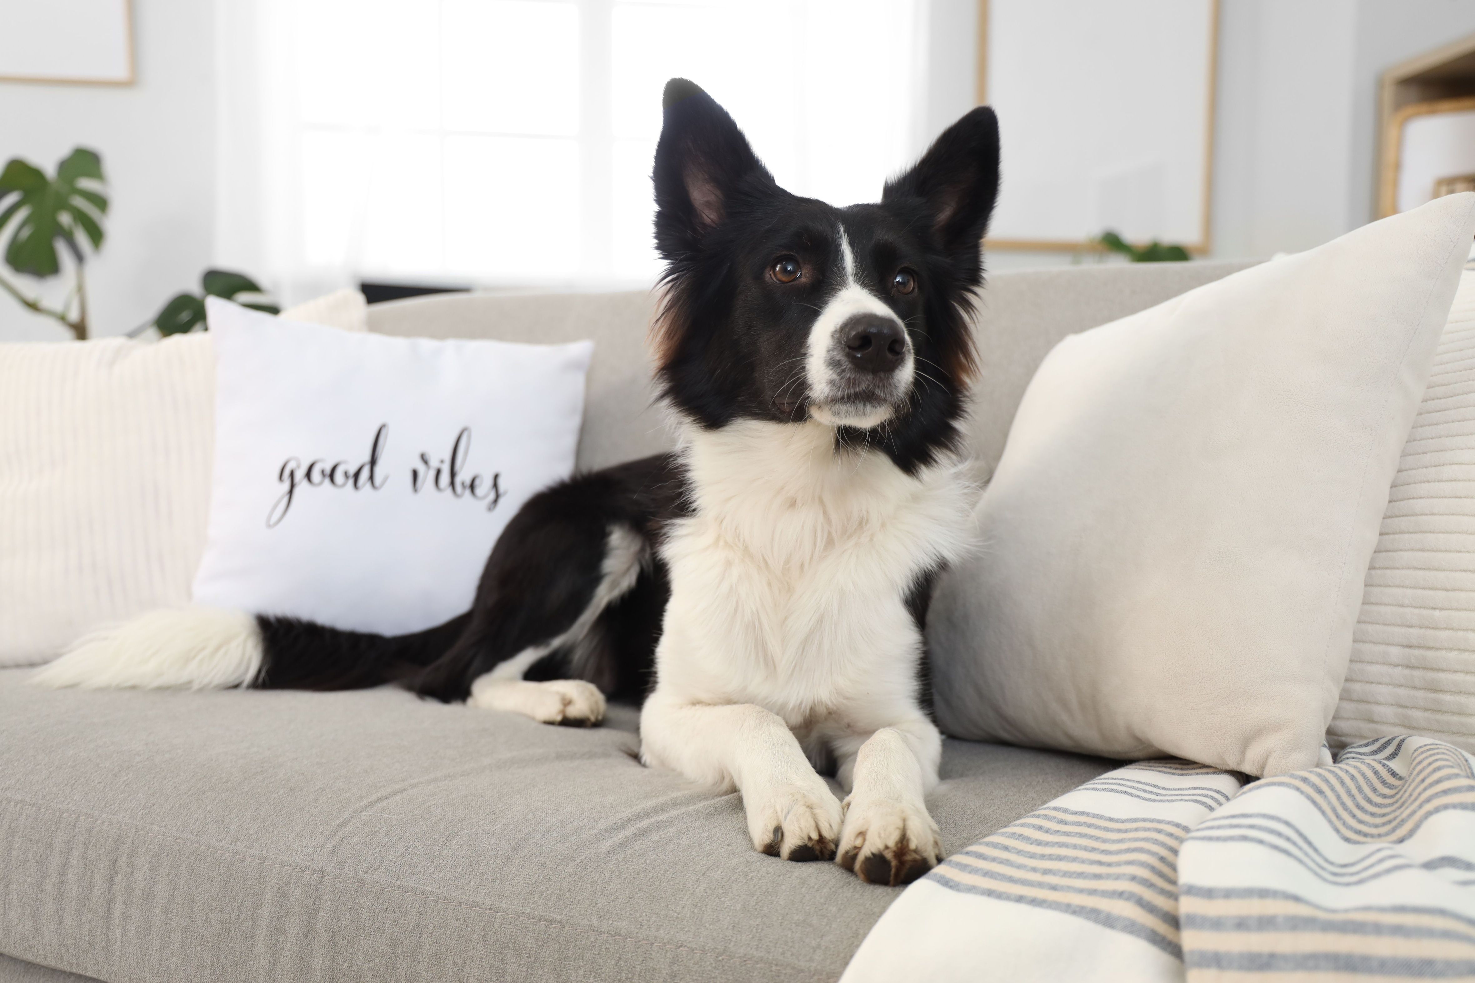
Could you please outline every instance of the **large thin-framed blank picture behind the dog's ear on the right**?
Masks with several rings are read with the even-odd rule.
[[[1112,230],[1207,253],[1217,68],[1218,0],[979,0],[976,97],[999,112],[1004,181],[987,243],[1094,252]]]

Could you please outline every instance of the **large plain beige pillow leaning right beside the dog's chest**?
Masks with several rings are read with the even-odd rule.
[[[943,730],[1317,763],[1475,195],[1065,339],[940,582]]]

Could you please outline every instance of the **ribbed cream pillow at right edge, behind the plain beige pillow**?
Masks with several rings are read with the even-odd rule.
[[[1475,752],[1475,271],[1403,447],[1328,737],[1425,734]]]

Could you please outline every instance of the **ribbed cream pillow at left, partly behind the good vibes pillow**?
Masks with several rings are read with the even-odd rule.
[[[369,327],[357,290],[283,317]],[[0,666],[189,603],[214,447],[209,335],[0,345]]]

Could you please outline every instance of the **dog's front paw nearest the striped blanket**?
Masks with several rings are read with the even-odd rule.
[[[851,796],[835,862],[869,884],[910,884],[943,862],[943,840],[922,805]]]

